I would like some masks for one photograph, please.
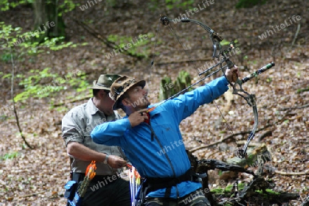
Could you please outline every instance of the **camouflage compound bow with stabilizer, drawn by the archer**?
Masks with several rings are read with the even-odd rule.
[[[179,21],[179,19],[174,20],[172,18],[168,18],[167,16],[161,16],[161,18],[160,18],[160,23],[162,25],[165,25],[165,26],[168,25],[170,27],[170,30],[172,31],[172,33],[176,36],[177,40],[181,44],[181,42],[180,42],[178,36],[176,35],[174,29],[170,25],[170,21]],[[206,79],[210,75],[213,75],[214,73],[217,73],[219,70],[222,70],[223,74],[225,74],[225,70],[224,70],[225,68],[232,68],[234,66],[233,62],[231,62],[231,60],[230,60],[229,53],[231,51],[233,51],[234,49],[236,49],[235,42],[233,42],[233,41],[229,42],[229,47],[227,49],[222,49],[220,42],[223,40],[223,38],[216,31],[214,31],[213,29],[211,29],[210,27],[208,27],[204,23],[201,23],[200,21],[196,21],[196,20],[190,19],[190,18],[181,18],[180,22],[181,23],[190,23],[191,22],[191,23],[195,23],[197,25],[200,25],[201,27],[203,27],[203,29],[205,29],[206,31],[209,32],[209,37],[210,37],[210,39],[213,43],[214,51],[213,51],[212,57],[216,58],[218,60],[218,63],[214,64],[214,66],[207,68],[203,72],[199,72],[198,69],[194,66],[194,68],[196,68],[196,70],[198,71],[198,76],[201,77],[201,75],[209,72],[209,70],[212,70],[213,68],[216,68],[217,66],[220,66],[220,68],[218,70],[215,70],[213,73],[206,75],[205,77],[201,77],[201,79],[199,81],[192,84],[191,86],[188,86],[184,90],[181,90],[177,94],[174,94],[173,96],[166,99],[165,101],[173,99],[175,96],[178,96],[179,94],[183,93],[183,91],[185,91],[189,88],[192,88],[192,86],[195,86],[197,83],[204,81],[204,79]],[[157,31],[157,36],[158,36],[158,33],[159,33],[159,27],[158,27],[158,31]],[[156,45],[157,45],[157,43],[156,43]],[[181,44],[181,46],[183,47],[183,44]],[[183,47],[183,49],[185,51],[184,47]],[[151,66],[153,65],[153,62],[154,61],[152,60]],[[223,63],[225,63],[226,65],[223,66]],[[244,144],[244,147],[242,149],[238,149],[237,155],[240,158],[247,157],[247,147],[249,146],[249,142],[254,138],[255,131],[258,128],[258,108],[257,108],[256,102],[255,102],[255,94],[249,94],[249,92],[245,91],[242,88],[242,83],[249,81],[250,79],[253,79],[253,77],[257,77],[258,75],[260,75],[260,73],[263,73],[265,70],[268,70],[269,68],[271,68],[273,66],[275,66],[274,62],[266,64],[262,68],[256,70],[254,73],[251,73],[251,75],[248,75],[247,77],[244,77],[243,79],[237,78],[237,81],[235,83],[233,83],[233,84],[231,83],[231,86],[233,88],[233,94],[238,94],[238,95],[242,96],[242,98],[244,98],[247,101],[248,105],[253,108],[253,116],[254,116],[253,129],[252,129],[251,133],[249,134],[249,136],[247,138],[247,142],[246,142],[246,144]],[[163,101],[161,103],[164,103],[165,101]],[[161,103],[159,105],[161,105]],[[157,106],[159,106],[159,105],[157,105]],[[217,107],[218,107],[218,105],[217,105]],[[150,110],[154,110],[154,109],[155,109],[155,107],[152,107]],[[218,108],[218,110],[220,111],[219,108]],[[148,112],[150,112],[150,111],[148,111]],[[222,118],[224,118],[224,116],[222,115],[221,112],[220,112],[220,114],[221,114]],[[225,123],[227,124],[226,120],[225,120]],[[229,127],[228,124],[227,124],[227,127]],[[229,127],[229,130],[231,131],[230,127]],[[231,133],[233,134],[232,131],[231,131]]]

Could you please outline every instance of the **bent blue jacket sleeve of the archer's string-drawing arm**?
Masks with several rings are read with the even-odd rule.
[[[108,146],[122,146],[122,138],[126,129],[130,128],[128,118],[115,120],[115,122],[103,123],[91,131],[91,138],[97,144]]]

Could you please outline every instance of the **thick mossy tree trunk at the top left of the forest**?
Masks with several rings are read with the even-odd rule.
[[[45,37],[55,38],[65,36],[65,23],[59,16],[58,0],[35,0],[34,7],[34,34],[43,31],[34,41],[43,42]]]

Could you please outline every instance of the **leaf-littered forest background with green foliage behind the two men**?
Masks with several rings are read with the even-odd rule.
[[[298,192],[300,198],[290,204],[300,205],[309,195],[309,1],[245,2],[1,0],[0,205],[65,205],[69,158],[61,119],[91,97],[87,88],[99,75],[146,79],[152,103],[159,101],[165,75],[174,81],[185,70],[192,83],[198,80],[190,59],[197,68],[213,62],[209,34],[194,24],[171,23],[188,56],[168,27],[160,25],[157,38],[161,15],[193,18],[220,33],[225,42],[236,40],[239,50],[232,60],[241,77],[275,62],[258,81],[244,84],[256,94],[260,116],[252,145],[266,144],[272,159],[264,177],[275,182],[274,190]],[[228,94],[216,103],[233,133],[242,135],[223,141],[230,131],[214,103],[181,123],[183,142],[198,159],[226,161],[233,156],[234,139],[246,140],[252,128],[247,103]],[[196,139],[218,143],[196,149],[201,147]],[[219,184],[221,174],[211,172],[210,188],[224,186]],[[225,183],[233,183],[233,178]]]

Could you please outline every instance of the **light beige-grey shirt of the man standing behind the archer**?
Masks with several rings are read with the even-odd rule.
[[[114,112],[112,116],[106,117],[103,112],[95,107],[92,99],[89,99],[87,103],[74,107],[62,118],[62,138],[65,140],[66,146],[69,142],[79,142],[94,151],[125,158],[124,153],[122,153],[119,147],[96,144],[92,141],[90,136],[90,133],[95,126],[102,123],[111,122],[119,118],[122,117],[119,116],[117,112]],[[74,157],[72,158],[72,171],[83,173],[86,172],[86,168],[91,162],[76,159]],[[96,162],[96,166],[96,175],[115,175],[115,172],[117,172],[117,169],[113,169],[111,166],[108,166],[108,164],[104,164],[103,162]]]

